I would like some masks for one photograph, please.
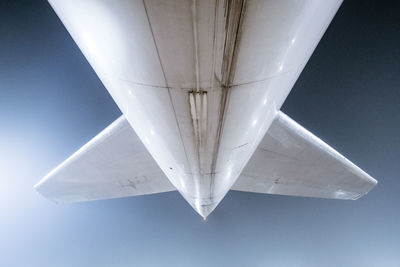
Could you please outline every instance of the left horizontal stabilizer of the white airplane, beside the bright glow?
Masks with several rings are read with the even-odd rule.
[[[57,203],[175,190],[123,116],[51,171],[35,188]]]

